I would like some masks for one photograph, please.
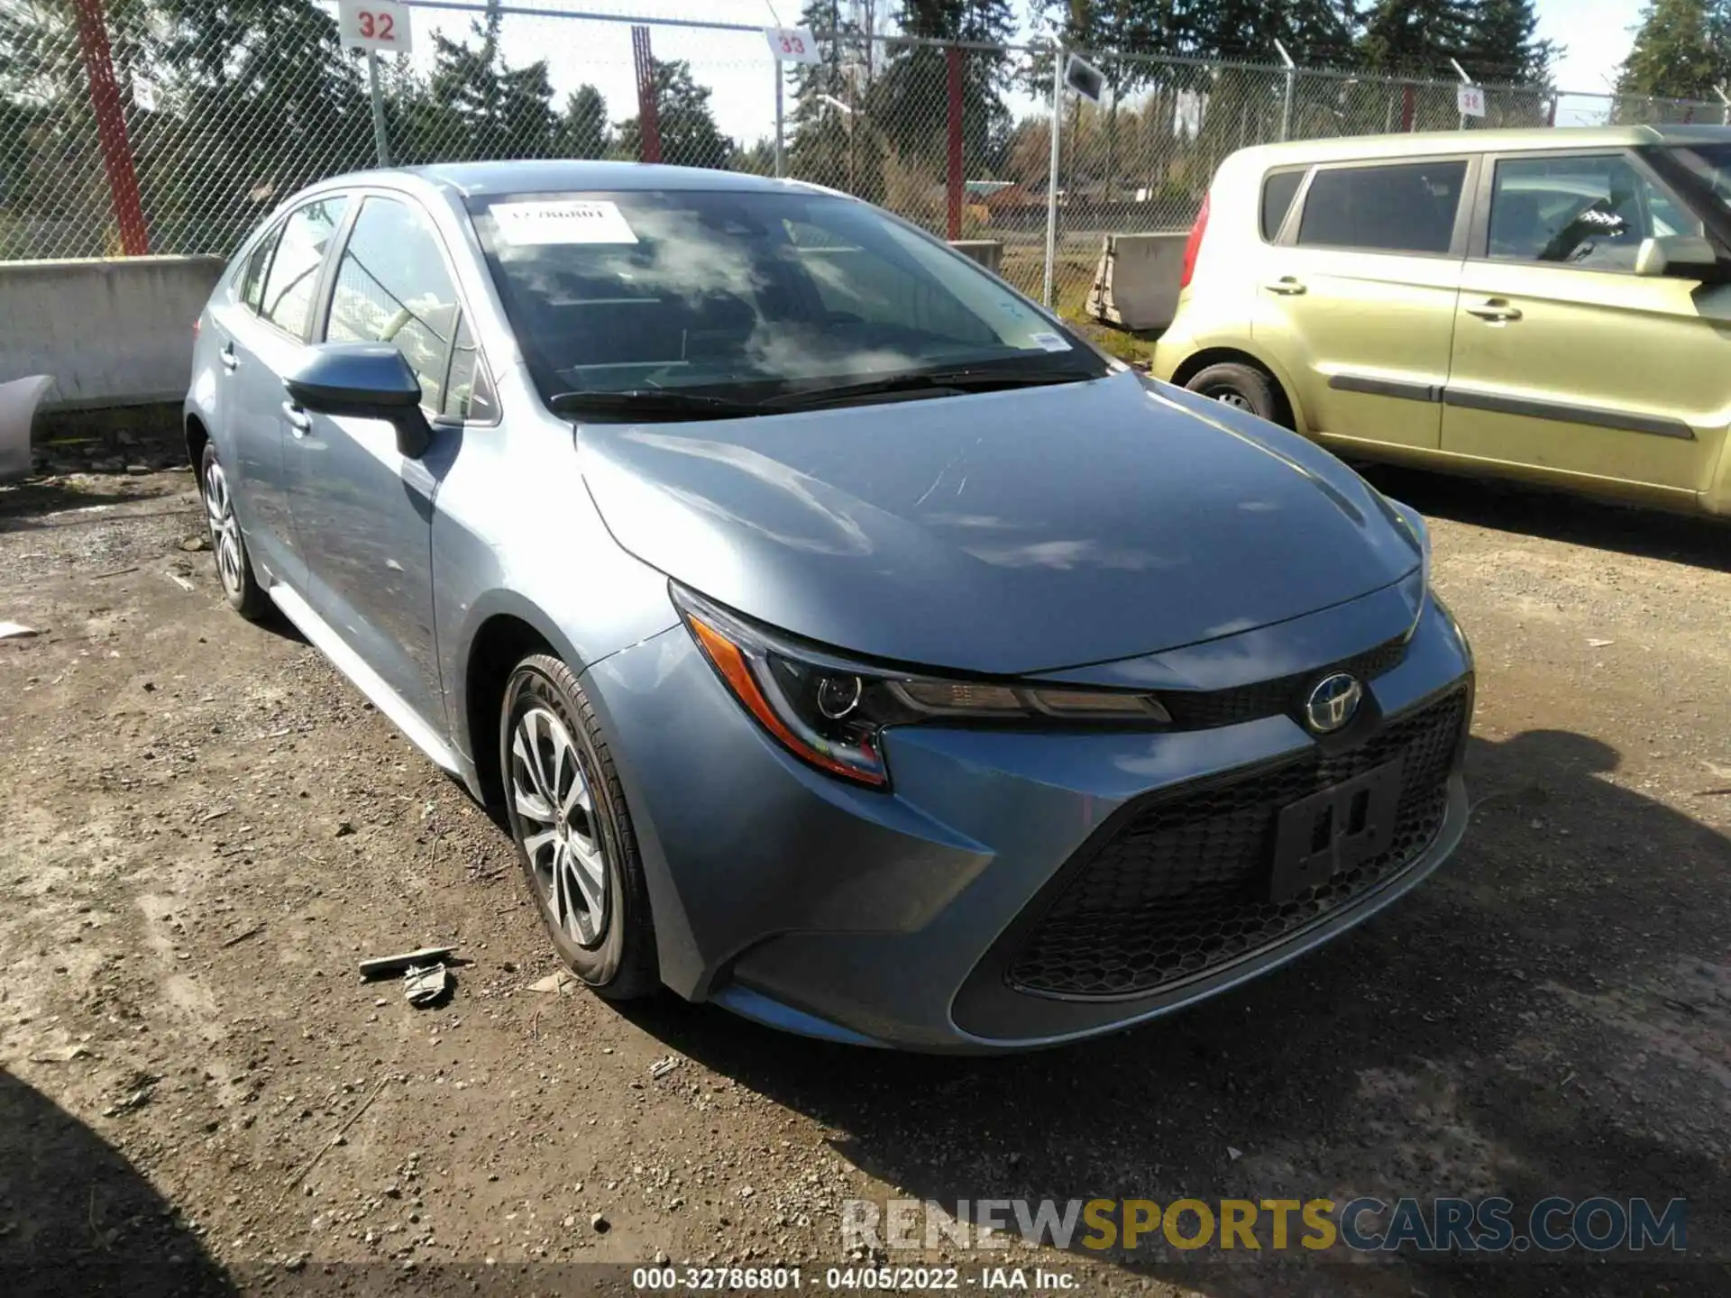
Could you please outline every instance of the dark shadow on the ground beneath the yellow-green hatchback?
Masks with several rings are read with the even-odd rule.
[[[1425,516],[1731,573],[1731,526],[1722,519],[1606,504],[1490,478],[1388,464],[1355,467],[1376,490]]]

